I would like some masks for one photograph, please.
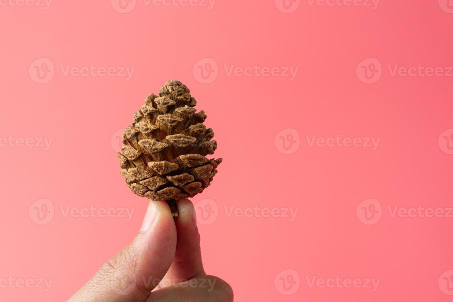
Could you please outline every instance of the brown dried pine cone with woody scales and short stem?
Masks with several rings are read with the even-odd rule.
[[[193,197],[208,187],[222,158],[207,159],[217,142],[203,125],[204,111],[180,81],[168,81],[159,97],[151,93],[134,114],[123,135],[121,175],[135,194],[168,202],[178,216],[176,200]]]

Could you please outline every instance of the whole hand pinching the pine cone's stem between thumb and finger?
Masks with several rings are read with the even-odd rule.
[[[150,201],[135,239],[107,261],[69,302],[232,302],[231,287],[204,272],[195,210]]]

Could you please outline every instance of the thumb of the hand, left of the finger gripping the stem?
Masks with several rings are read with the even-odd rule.
[[[176,226],[165,201],[150,201],[139,234],[87,282],[70,302],[144,301],[164,277],[176,250]]]

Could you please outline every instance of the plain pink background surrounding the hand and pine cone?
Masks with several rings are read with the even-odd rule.
[[[53,0],[47,10],[19,1],[0,6],[0,138],[53,140],[46,151],[37,140],[0,147],[0,279],[53,281],[47,292],[3,286],[0,300],[65,301],[132,240],[147,204],[123,184],[115,133],[145,96],[178,79],[224,158],[193,202],[213,215],[198,215],[206,271],[231,284],[235,301],[451,301],[453,78],[391,72],[453,66],[451,0],[381,0],[374,10],[340,5],[347,0],[287,9],[282,0],[217,0],[210,10],[137,0],[129,13],[116,0]],[[39,80],[42,58],[50,72]],[[129,80],[82,77],[60,64],[135,70]],[[290,80],[277,69],[228,74],[231,64],[299,69]],[[212,73],[202,78],[200,68]],[[365,70],[376,71],[371,80]],[[372,151],[306,138],[337,134],[380,142]],[[41,199],[51,202],[43,225],[32,206]],[[65,217],[67,206],[134,213]],[[231,206],[267,210],[246,217],[229,215]],[[392,216],[395,206],[444,215]],[[288,208],[294,221],[261,215]],[[314,276],[380,283],[310,287]]]

